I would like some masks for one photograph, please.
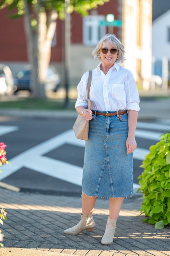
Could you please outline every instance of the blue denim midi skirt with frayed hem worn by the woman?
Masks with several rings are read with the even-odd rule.
[[[116,112],[100,111],[99,112]],[[133,153],[127,155],[128,113],[93,114],[85,142],[82,192],[99,198],[133,195]]]

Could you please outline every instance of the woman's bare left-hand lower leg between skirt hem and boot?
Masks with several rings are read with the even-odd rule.
[[[82,215],[92,214],[95,202],[96,202],[96,197],[86,196],[84,193],[82,193],[82,196],[81,196]]]

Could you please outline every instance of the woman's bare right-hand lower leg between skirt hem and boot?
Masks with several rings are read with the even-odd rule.
[[[116,220],[119,216],[119,212],[121,210],[121,206],[123,204],[123,198],[114,197],[109,198],[109,218]]]

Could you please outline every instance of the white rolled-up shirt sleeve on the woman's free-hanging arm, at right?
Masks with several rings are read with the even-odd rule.
[[[139,93],[137,90],[137,86],[136,86],[136,82],[134,80],[134,77],[131,73],[131,78],[129,78],[129,76],[127,77],[128,81],[126,82],[125,86],[124,86],[124,90],[126,93],[126,109],[132,109],[132,110],[136,110],[139,111],[140,110],[140,106],[139,106],[139,102],[140,102],[140,98],[139,98]]]

